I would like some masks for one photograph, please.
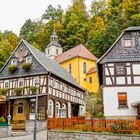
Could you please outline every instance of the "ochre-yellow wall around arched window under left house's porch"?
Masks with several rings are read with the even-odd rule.
[[[23,103],[23,113],[18,113],[19,104]],[[25,99],[17,99],[14,102],[13,120],[26,120],[27,101]]]

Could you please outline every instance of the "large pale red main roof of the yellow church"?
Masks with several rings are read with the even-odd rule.
[[[82,44],[63,52],[62,54],[56,56],[54,60],[58,63],[62,63],[74,57],[83,57],[93,61],[97,61],[98,58],[95,57],[87,48],[85,48]]]

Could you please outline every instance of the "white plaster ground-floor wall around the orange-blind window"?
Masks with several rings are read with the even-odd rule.
[[[127,92],[127,109],[118,109],[118,92]],[[140,87],[104,87],[103,89],[105,116],[135,116],[137,110],[131,107],[131,103],[137,101],[140,101]]]

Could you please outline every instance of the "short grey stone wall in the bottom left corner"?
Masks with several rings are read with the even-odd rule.
[[[11,136],[11,126],[0,126],[0,138]]]

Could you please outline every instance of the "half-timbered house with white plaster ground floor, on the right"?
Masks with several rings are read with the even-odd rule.
[[[107,118],[140,117],[140,26],[125,29],[99,59]]]

